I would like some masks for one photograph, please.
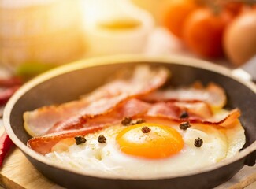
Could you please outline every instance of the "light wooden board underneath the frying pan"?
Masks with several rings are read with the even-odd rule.
[[[3,132],[3,127],[0,128],[0,132]],[[38,172],[30,161],[25,158],[24,154],[15,146],[7,154],[2,169],[0,169],[0,185],[11,189],[63,189],[63,187],[46,179],[45,176]],[[231,180],[216,187],[216,189],[224,188],[256,188],[256,166],[244,166]]]

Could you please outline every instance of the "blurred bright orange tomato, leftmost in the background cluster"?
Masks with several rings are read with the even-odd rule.
[[[192,0],[176,0],[171,1],[163,16],[163,25],[176,35],[178,38],[182,38],[184,21],[187,16],[192,13],[198,5]]]

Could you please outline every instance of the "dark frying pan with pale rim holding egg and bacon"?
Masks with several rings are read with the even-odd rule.
[[[170,69],[173,86],[188,85],[195,80],[211,81],[224,87],[228,103],[225,108],[239,108],[245,128],[246,144],[235,157],[193,171],[169,174],[155,179],[117,179],[90,175],[65,168],[47,160],[26,146],[30,136],[23,127],[23,113],[50,104],[68,102],[104,83],[119,69],[147,63]],[[101,57],[64,65],[36,77],[16,92],[4,110],[6,132],[29,161],[44,176],[67,188],[212,188],[232,178],[243,165],[254,165],[256,156],[256,87],[250,81],[232,76],[232,70],[206,61],[185,57]]]

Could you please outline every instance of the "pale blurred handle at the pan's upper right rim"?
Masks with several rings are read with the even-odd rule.
[[[234,69],[232,74],[243,80],[251,80],[256,83],[256,55],[238,69]]]

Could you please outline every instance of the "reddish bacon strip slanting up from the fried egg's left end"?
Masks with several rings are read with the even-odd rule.
[[[119,105],[117,109],[110,113],[88,118],[84,124],[76,125],[72,128],[52,128],[49,135],[29,139],[27,145],[40,154],[46,154],[62,139],[72,138],[76,135],[86,135],[113,124],[121,124],[121,120],[124,117],[143,115],[149,108],[150,104],[133,98]]]

